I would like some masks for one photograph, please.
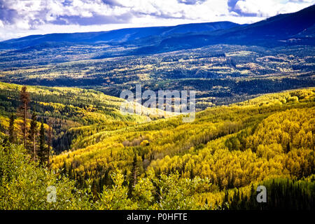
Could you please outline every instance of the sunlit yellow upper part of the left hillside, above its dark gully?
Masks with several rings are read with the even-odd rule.
[[[1,111],[15,111],[22,85],[0,83]],[[31,109],[45,116],[67,118],[83,124],[103,120],[135,120],[121,115],[123,99],[94,90],[73,87],[27,86]]]

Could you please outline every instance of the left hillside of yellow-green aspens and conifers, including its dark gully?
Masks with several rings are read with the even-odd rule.
[[[16,113],[20,106],[21,87],[0,83],[0,131],[3,133],[7,131],[10,114]],[[148,120],[146,116],[123,115],[120,113],[123,99],[94,90],[27,86],[27,91],[31,97],[30,111],[37,113],[39,121],[43,118],[44,123],[51,123],[55,132],[52,144],[58,152],[69,148],[72,139],[81,132],[79,127],[88,126],[90,132],[99,132]],[[16,124],[19,134],[18,123],[19,119]],[[72,131],[72,127],[76,129]]]

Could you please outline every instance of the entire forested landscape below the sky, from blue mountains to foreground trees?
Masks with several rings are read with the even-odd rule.
[[[314,15],[0,42],[0,209],[314,210]]]

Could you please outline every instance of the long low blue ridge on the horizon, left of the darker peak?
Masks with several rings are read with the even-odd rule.
[[[233,22],[207,22],[188,25],[177,25],[172,27],[142,27],[117,29],[111,31],[73,33],[73,34],[45,34],[32,35],[22,38],[2,41],[0,48],[27,48],[45,42],[72,43],[72,44],[95,44],[95,43],[122,43],[134,41],[138,38],[148,36],[170,36],[173,34],[189,34],[204,31],[215,31],[218,29],[230,29],[239,26]]]

